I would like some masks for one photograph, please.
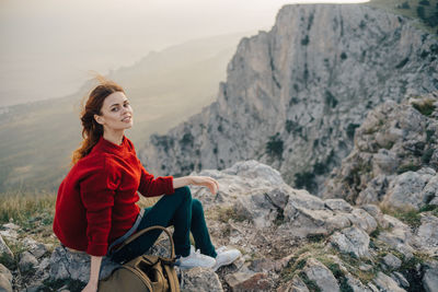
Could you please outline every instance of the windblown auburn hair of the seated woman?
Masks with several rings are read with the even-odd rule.
[[[85,105],[82,102],[80,117],[83,140],[82,144],[71,155],[71,165],[87,156],[103,136],[103,126],[94,119],[94,115],[102,115],[101,109],[105,98],[115,92],[125,93],[124,89],[114,81],[107,80],[102,75],[97,75],[96,79],[100,84],[90,92]]]

